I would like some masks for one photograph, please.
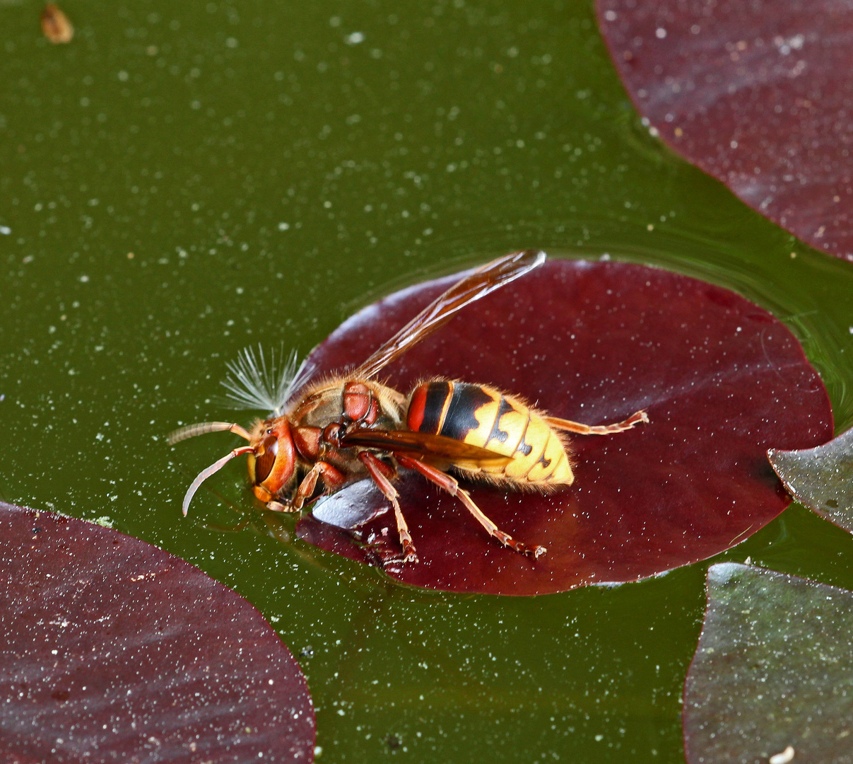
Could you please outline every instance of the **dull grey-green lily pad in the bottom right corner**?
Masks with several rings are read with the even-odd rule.
[[[853,592],[737,563],[712,565],[707,586],[688,764],[850,761]]]

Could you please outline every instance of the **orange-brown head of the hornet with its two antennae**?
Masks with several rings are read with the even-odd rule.
[[[252,490],[261,501],[268,502],[274,499],[293,478],[296,469],[296,448],[293,446],[290,423],[285,417],[276,417],[265,422],[259,422],[253,428],[252,433],[236,423],[205,422],[190,424],[188,427],[177,429],[171,433],[169,443],[177,443],[178,440],[192,438],[194,435],[223,432],[224,430],[240,435],[241,438],[249,441],[249,445],[235,448],[196,476],[183,497],[184,515],[187,514],[189,503],[201,483],[222,469],[231,459],[244,453],[248,454],[249,457],[249,479],[252,481]]]

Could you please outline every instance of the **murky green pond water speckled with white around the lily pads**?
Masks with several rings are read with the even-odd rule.
[[[165,434],[234,416],[242,347],[306,353],[379,295],[528,247],[756,300],[847,429],[853,266],[650,137],[589,2],[62,7],[55,46],[38,3],[0,0],[0,498],[106,517],[247,597],[305,670],[318,761],[683,761],[707,563],[539,598],[409,589],[235,511],[241,463],[183,519],[227,438]],[[747,555],[853,587],[853,539],[798,504],[720,558]]]

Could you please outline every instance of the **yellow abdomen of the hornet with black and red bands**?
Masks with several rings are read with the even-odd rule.
[[[572,466],[560,436],[513,395],[467,382],[424,382],[409,398],[414,432],[444,435],[512,458],[501,467],[455,466],[532,485],[569,485]]]

